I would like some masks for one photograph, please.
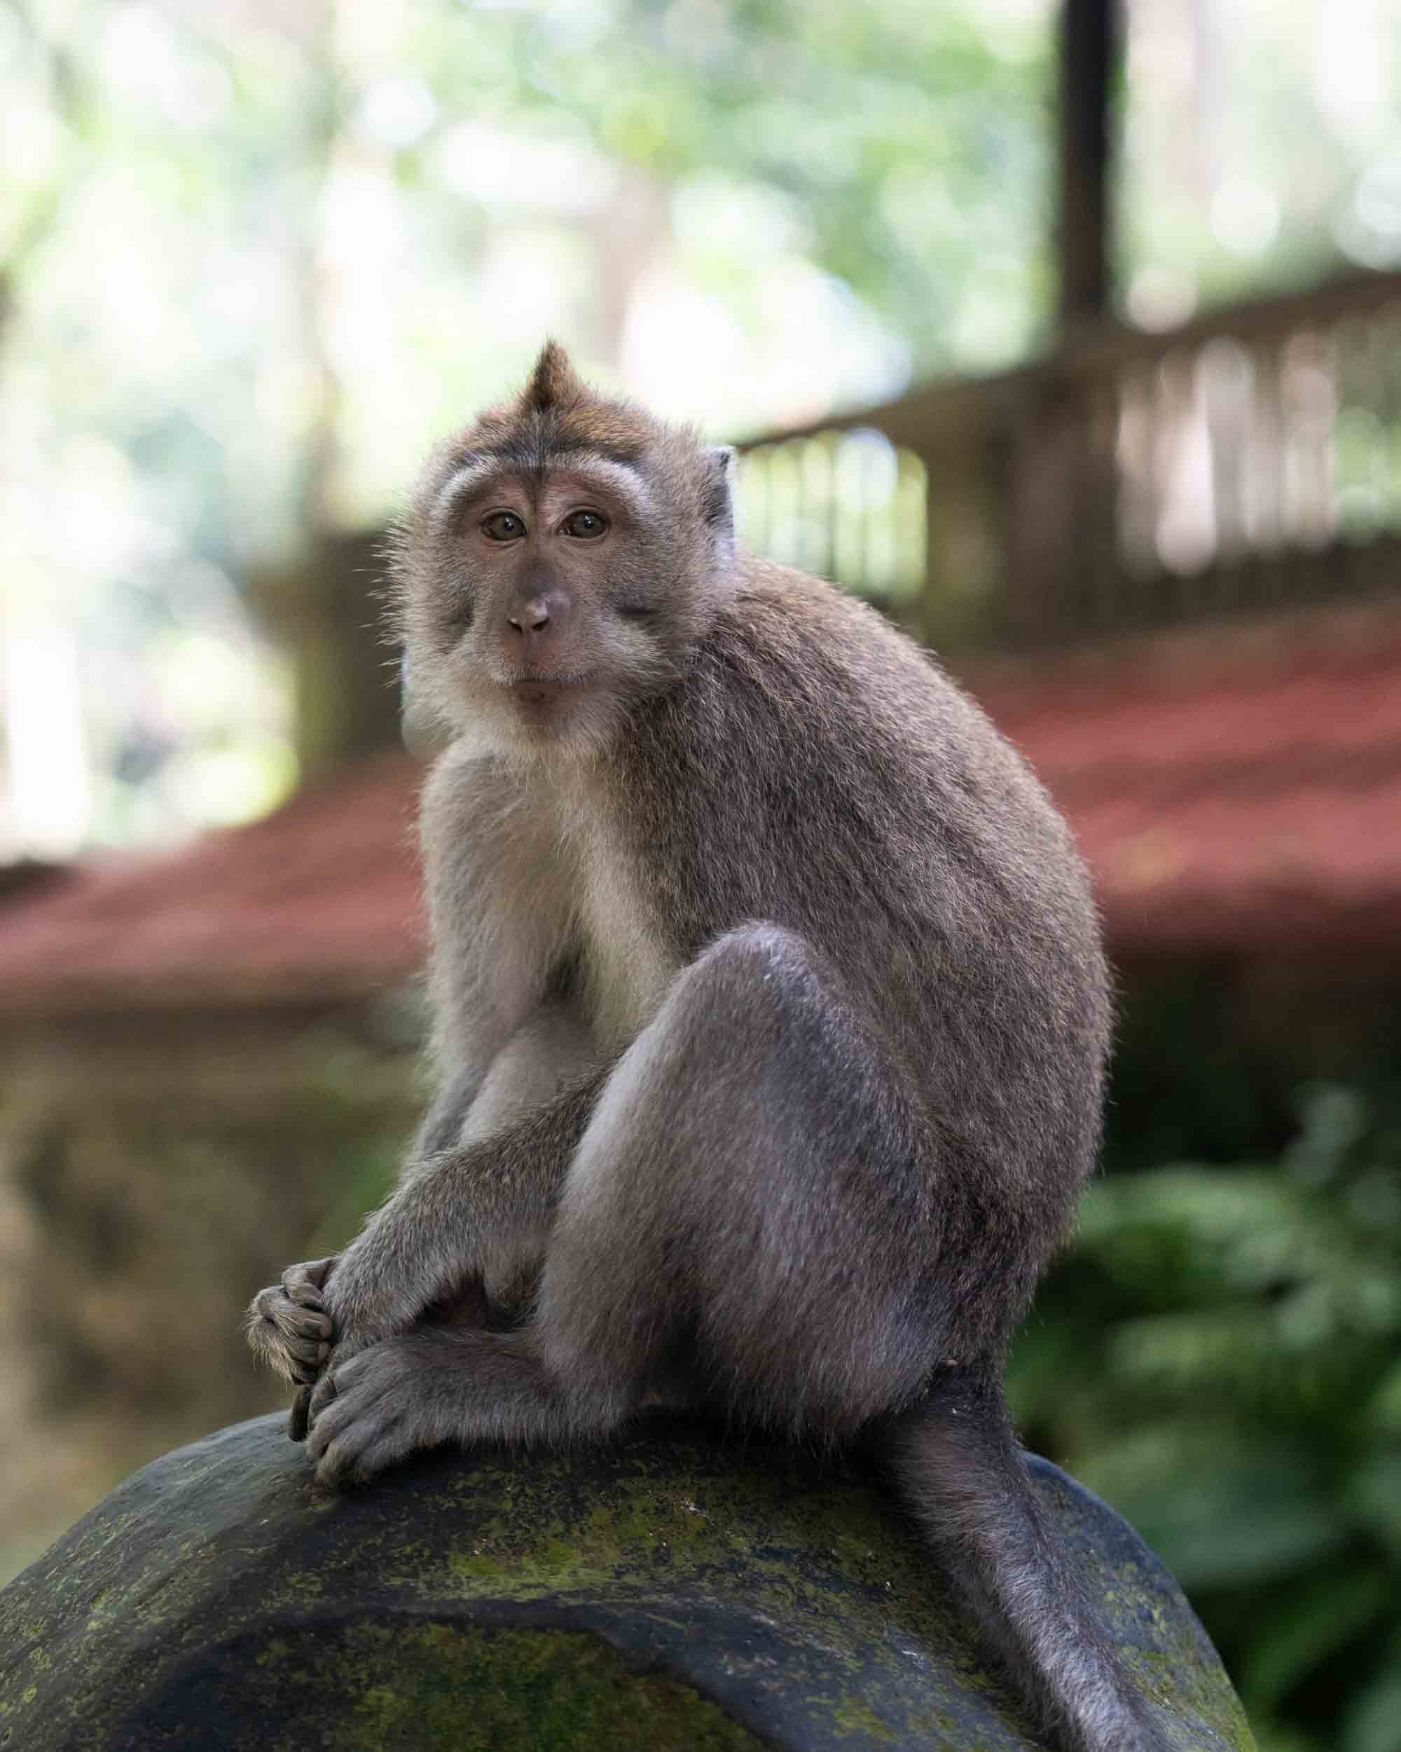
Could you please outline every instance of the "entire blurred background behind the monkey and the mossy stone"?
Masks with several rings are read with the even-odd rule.
[[[1028,1440],[1401,1748],[1401,0],[0,0],[0,1575],[275,1403],[422,1100],[377,541],[546,333],[1070,813]]]

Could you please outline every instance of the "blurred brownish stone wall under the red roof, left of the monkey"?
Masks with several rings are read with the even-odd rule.
[[[242,1310],[382,1197],[417,1044],[406,995],[0,1037],[0,1580],[135,1466],[285,1402]]]

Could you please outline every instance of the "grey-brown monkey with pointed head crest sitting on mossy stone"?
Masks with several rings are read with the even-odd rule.
[[[930,653],[743,548],[732,468],[555,342],[427,464],[436,1097],[250,1342],[327,1486],[655,1402],[874,1444],[1038,1731],[1163,1752],[1003,1395],[1098,1155],[1086,869]]]

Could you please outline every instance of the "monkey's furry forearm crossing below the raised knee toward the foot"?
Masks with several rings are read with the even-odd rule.
[[[338,1356],[405,1332],[434,1302],[545,1253],[555,1202],[608,1069],[476,1142],[405,1169],[322,1291]]]

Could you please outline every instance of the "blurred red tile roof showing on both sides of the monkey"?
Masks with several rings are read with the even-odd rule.
[[[1401,964],[1401,613],[1159,639],[972,687],[1070,815],[1119,957]],[[0,913],[0,1018],[356,997],[422,957],[419,769],[385,755]]]

